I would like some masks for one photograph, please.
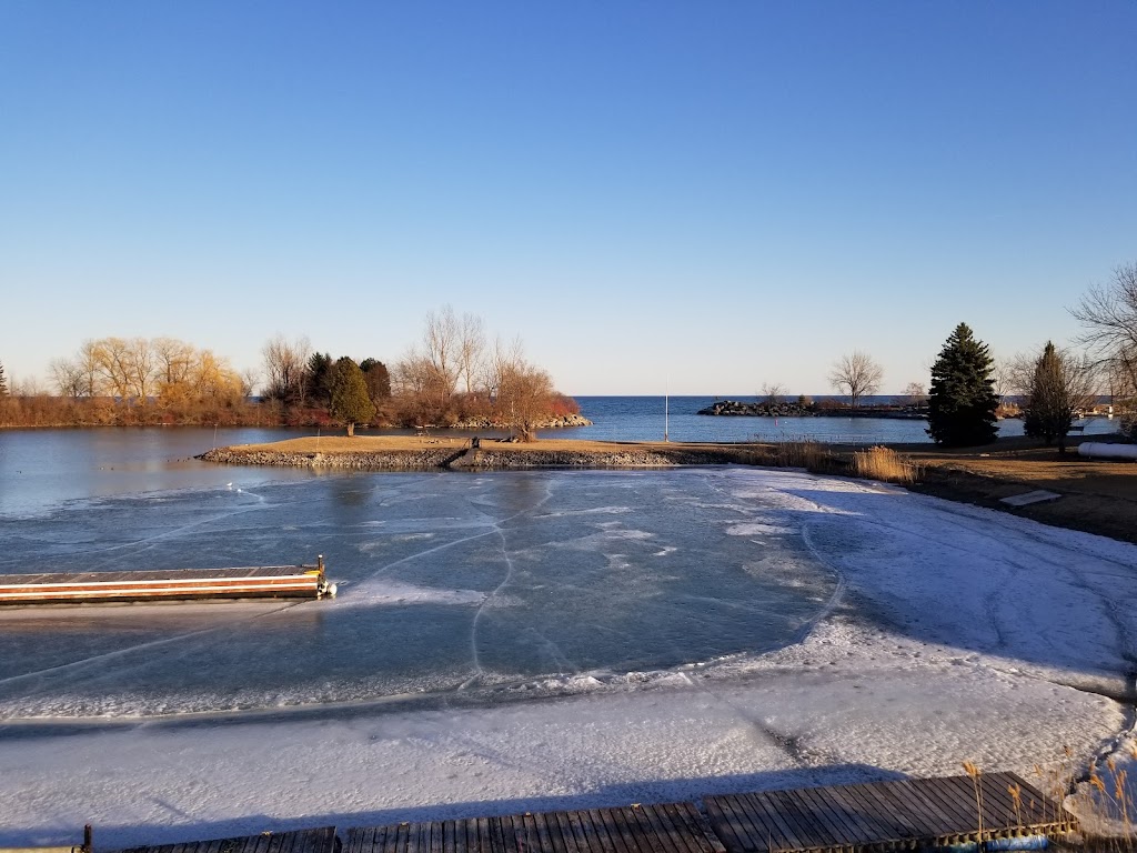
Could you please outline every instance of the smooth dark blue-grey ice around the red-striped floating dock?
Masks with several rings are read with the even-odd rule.
[[[799,528],[770,523],[781,511],[761,498],[712,503],[728,483],[706,472],[365,474],[0,520],[0,571],[321,553],[340,589],[292,605],[0,613],[0,717],[429,697],[766,652],[818,616],[836,573]]]

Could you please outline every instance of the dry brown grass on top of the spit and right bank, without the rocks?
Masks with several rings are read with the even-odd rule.
[[[894,445],[890,454],[865,454],[866,448],[828,445],[716,445],[687,442],[613,442],[573,439],[541,439],[513,444],[482,439],[483,450],[495,453],[611,454],[626,450],[689,450],[722,456],[740,464],[792,465],[821,473],[875,477],[897,480],[888,472],[897,469],[897,458],[913,467],[911,478],[899,481],[921,494],[987,506],[1035,519],[1046,524],[1085,530],[1114,539],[1137,543],[1137,463],[1088,459],[1078,455],[1080,438],[1070,440],[1065,454],[1044,447],[1032,439],[1003,439],[979,448],[945,449],[932,445]],[[298,438],[267,445],[249,445],[242,450],[281,453],[374,453],[383,450],[437,450],[470,445],[466,438],[445,436],[323,436]],[[861,459],[855,459],[855,454]],[[877,458],[869,458],[875,456]],[[880,458],[883,457],[883,458]],[[881,465],[881,463],[885,463]],[[1045,489],[1062,497],[1045,504],[1011,507],[1001,498]]]

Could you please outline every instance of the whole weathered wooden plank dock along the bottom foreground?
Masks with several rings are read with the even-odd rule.
[[[695,803],[636,804],[362,827],[347,831],[342,853],[891,853],[1077,828],[1061,805],[1014,773],[767,790],[703,803],[704,811]],[[341,851],[335,829],[325,827],[123,853]]]

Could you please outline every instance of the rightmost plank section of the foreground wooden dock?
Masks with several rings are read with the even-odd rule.
[[[706,797],[730,853],[853,853],[1063,833],[1072,818],[1013,773],[835,785]],[[1009,786],[1019,785],[1016,810]],[[1031,805],[1031,802],[1034,805]]]

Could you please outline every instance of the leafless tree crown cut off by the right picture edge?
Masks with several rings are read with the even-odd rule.
[[[1070,313],[1085,326],[1079,340],[1097,364],[1124,397],[1137,397],[1137,263],[1115,267],[1110,282],[1092,287]]]

